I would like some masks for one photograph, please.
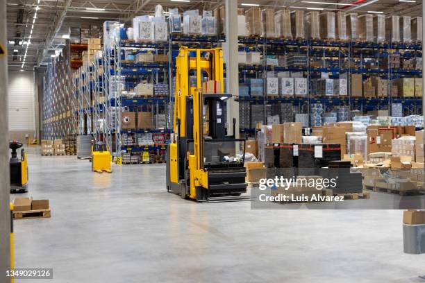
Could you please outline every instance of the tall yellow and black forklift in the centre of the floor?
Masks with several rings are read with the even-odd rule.
[[[245,140],[226,135],[221,48],[181,47],[176,58],[176,96],[172,141],[167,147],[167,191],[203,201],[246,200]],[[196,76],[196,84],[190,77]],[[202,78],[217,82],[202,92]]]

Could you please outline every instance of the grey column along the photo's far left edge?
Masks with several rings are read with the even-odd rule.
[[[6,0],[0,0],[0,282],[10,282],[10,175],[8,130],[8,56],[6,37]]]

